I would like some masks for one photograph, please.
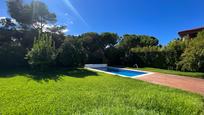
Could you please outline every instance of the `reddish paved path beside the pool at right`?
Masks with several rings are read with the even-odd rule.
[[[154,73],[137,79],[204,95],[204,79]]]

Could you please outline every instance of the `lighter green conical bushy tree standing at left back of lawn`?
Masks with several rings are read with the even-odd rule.
[[[54,63],[56,56],[57,50],[52,37],[45,33],[39,33],[33,47],[28,51],[26,59],[32,67],[43,70]]]

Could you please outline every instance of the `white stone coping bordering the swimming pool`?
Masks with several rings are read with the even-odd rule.
[[[108,66],[111,67],[111,66]],[[128,78],[138,78],[138,77],[143,77],[146,75],[151,75],[154,74],[154,72],[148,72],[148,71],[141,71],[141,70],[134,70],[134,69],[127,69],[127,68],[118,68],[118,67],[111,67],[111,68],[116,68],[116,69],[122,69],[122,70],[130,70],[130,71],[135,71],[135,72],[144,72],[145,74],[142,75],[137,75],[137,76],[126,76],[126,75],[120,75],[120,74],[116,74],[116,73],[111,73],[111,72],[107,72],[107,71],[103,71],[103,70],[99,70],[99,69],[94,69],[94,68],[90,68],[90,67],[84,67],[85,69],[88,70],[92,70],[92,71],[97,71],[97,72],[102,72],[102,73],[106,73],[106,74],[111,74],[111,75],[116,75],[116,76],[121,76],[121,77],[128,77]]]

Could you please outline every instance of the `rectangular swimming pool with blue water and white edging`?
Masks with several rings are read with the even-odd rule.
[[[104,72],[112,75],[119,75],[122,77],[141,77],[143,75],[150,74],[149,72],[143,72],[143,71],[137,71],[137,70],[131,70],[131,69],[124,69],[124,68],[116,68],[116,67],[92,67],[88,68],[90,70],[95,70],[99,72]]]

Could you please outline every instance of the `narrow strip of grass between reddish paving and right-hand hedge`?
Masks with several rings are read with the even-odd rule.
[[[165,70],[165,69],[150,68],[150,67],[138,68],[137,70],[159,72],[159,73],[165,73],[165,74],[174,74],[174,75],[181,75],[181,76],[189,76],[189,77],[197,77],[197,78],[204,78],[204,73],[201,73],[201,72],[181,72],[181,71],[175,71],[175,70]]]

